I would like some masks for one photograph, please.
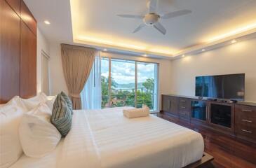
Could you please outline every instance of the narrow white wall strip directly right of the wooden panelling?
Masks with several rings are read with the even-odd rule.
[[[42,50],[50,56],[50,48],[47,39],[43,36],[40,29],[37,28],[37,50],[36,50],[36,90],[37,93],[42,90],[42,76],[41,76],[41,61],[42,61]]]

